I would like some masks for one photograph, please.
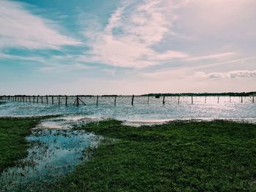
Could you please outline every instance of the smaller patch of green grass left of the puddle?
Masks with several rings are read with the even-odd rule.
[[[26,140],[42,118],[0,118],[0,173],[26,157],[29,142]]]

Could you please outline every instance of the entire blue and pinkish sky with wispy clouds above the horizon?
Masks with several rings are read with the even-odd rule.
[[[255,18],[255,0],[0,0],[0,95],[256,91]]]

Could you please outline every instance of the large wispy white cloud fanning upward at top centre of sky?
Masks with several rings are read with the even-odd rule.
[[[91,53],[89,58],[80,57],[80,61],[142,68],[187,58],[187,53],[178,50],[154,49],[167,34],[172,34],[176,20],[173,10],[177,6],[178,3],[170,0],[125,1],[113,12],[103,30],[86,31]]]

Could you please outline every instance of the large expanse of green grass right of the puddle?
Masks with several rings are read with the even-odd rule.
[[[256,191],[256,125],[117,120],[83,129],[109,138],[50,191]]]

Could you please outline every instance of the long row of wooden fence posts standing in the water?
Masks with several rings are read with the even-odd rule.
[[[23,101],[25,102],[31,102],[31,98],[33,103],[35,103],[35,100],[37,98],[37,103],[39,103],[39,97],[41,97],[41,103],[43,103],[43,96],[0,96],[0,100],[5,100],[5,101]],[[45,96],[46,97],[46,104],[48,104],[48,97],[51,97],[51,104],[54,104],[54,96]],[[56,96],[55,96],[56,97]],[[64,96],[65,97],[65,105],[67,106],[67,101],[68,101],[68,96]],[[26,98],[26,99],[25,99]],[[58,104],[61,104],[61,96],[58,96],[59,100],[58,100]],[[115,96],[114,99],[114,105],[116,105],[116,98],[117,96]],[[135,96],[132,95],[132,105],[134,104],[134,98]],[[147,104],[149,104],[149,98],[150,96],[148,96],[148,101]],[[243,96],[241,96],[241,103],[243,103]],[[255,96],[252,96],[252,103],[255,102]],[[193,104],[193,96],[191,96],[191,104]],[[217,103],[219,104],[219,96],[217,96]],[[230,96],[230,103],[231,103],[231,96]],[[73,103],[73,105],[79,106],[80,104],[84,104],[86,105],[85,102],[83,102],[79,96],[76,96],[75,101]],[[96,105],[99,104],[99,96],[97,96],[97,101],[96,101]],[[165,96],[162,97],[162,104],[165,104]],[[178,104],[180,104],[180,96],[178,96]],[[206,104],[206,96],[205,96],[205,104]]]

